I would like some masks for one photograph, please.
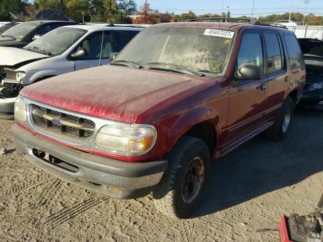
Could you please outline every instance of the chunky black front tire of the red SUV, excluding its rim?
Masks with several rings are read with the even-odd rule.
[[[196,198],[187,204],[182,198],[182,181],[186,168],[195,157],[204,163],[204,178]],[[165,155],[169,166],[152,191],[154,204],[159,212],[172,218],[188,218],[197,210],[210,170],[210,153],[207,145],[200,139],[184,136]]]

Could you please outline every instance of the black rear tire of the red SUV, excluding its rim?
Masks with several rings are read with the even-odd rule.
[[[288,126],[287,130],[284,132],[283,123],[284,123],[284,117],[285,117],[288,107],[290,107],[290,110],[291,110],[291,117],[290,117],[289,126]],[[295,107],[295,104],[294,104],[293,99],[291,97],[287,97],[283,103],[283,106],[282,106],[279,114],[278,114],[278,118],[277,118],[276,122],[274,123],[274,125],[272,127],[268,128],[266,131],[266,136],[268,139],[280,141],[280,140],[284,140],[288,136],[292,122],[293,122],[294,107]]]

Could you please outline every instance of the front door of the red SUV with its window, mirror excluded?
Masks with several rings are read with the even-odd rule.
[[[227,142],[238,139],[262,122],[267,96],[263,46],[261,32],[247,32],[242,36],[236,71],[242,64],[255,64],[261,67],[263,76],[254,81],[231,81]]]

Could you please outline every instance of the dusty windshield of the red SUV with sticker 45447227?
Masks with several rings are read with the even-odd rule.
[[[203,76],[224,74],[233,31],[200,27],[151,27],[139,33],[115,58],[144,68]],[[185,71],[186,70],[186,71]]]

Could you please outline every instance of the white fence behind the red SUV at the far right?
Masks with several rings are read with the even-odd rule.
[[[297,38],[323,40],[323,25],[287,26],[287,28],[293,31]]]

